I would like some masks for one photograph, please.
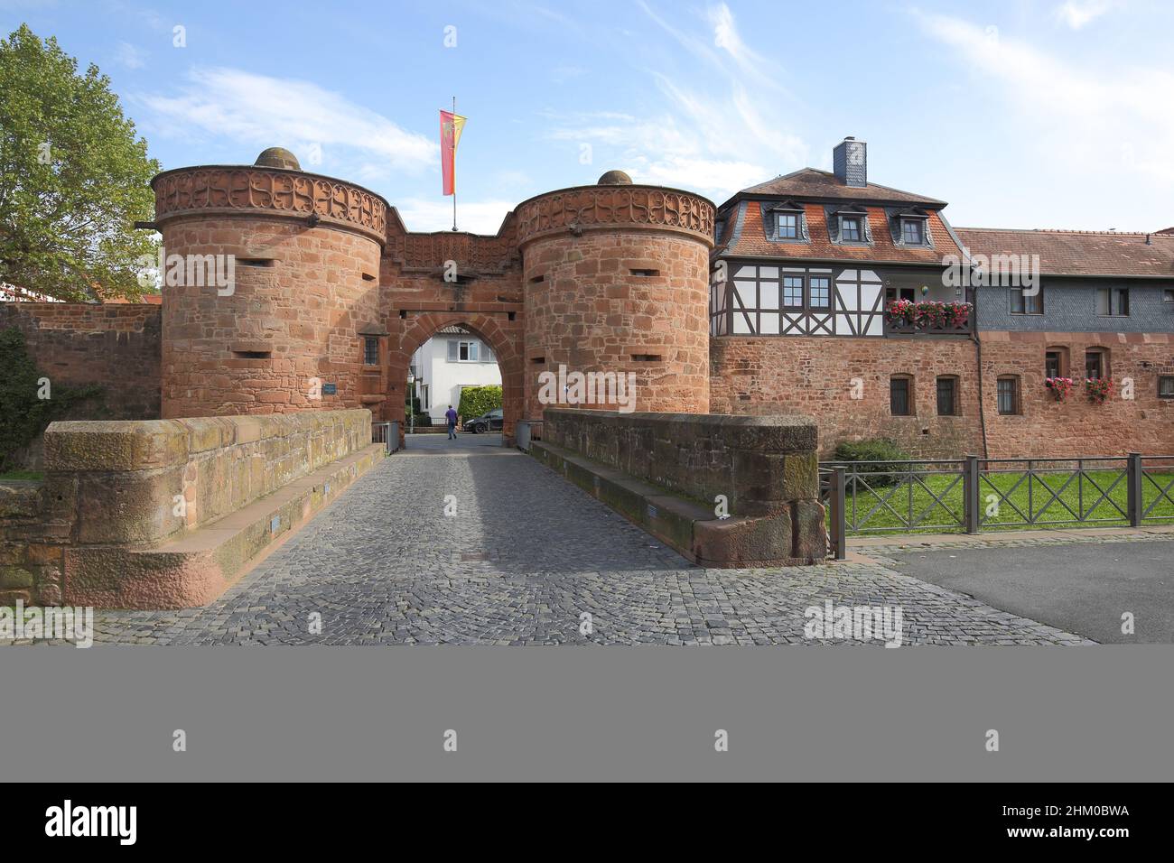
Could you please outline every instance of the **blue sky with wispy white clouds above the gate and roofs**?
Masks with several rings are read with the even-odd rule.
[[[268,146],[460,227],[610,168],[717,202],[844,135],[957,225],[1174,225],[1174,4],[0,0],[113,80],[164,168]],[[174,46],[175,27],[185,46]],[[446,28],[454,28],[446,29]],[[446,47],[447,41],[456,45]]]

